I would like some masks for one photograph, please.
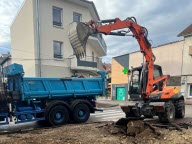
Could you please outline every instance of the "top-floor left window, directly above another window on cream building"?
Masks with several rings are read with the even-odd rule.
[[[62,26],[63,25],[63,19],[62,19],[62,8],[53,7],[53,25],[54,26]]]

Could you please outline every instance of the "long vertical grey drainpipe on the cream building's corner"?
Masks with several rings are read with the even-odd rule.
[[[36,38],[37,38],[37,61],[38,61],[38,76],[41,77],[41,34],[40,34],[40,11],[39,11],[39,0],[36,0]]]

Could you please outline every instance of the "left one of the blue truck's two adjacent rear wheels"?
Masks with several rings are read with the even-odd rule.
[[[51,125],[63,125],[69,121],[69,113],[62,105],[53,107],[49,112],[49,122]]]

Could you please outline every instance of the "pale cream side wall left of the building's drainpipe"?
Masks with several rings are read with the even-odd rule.
[[[34,1],[27,0],[11,26],[12,63],[22,64],[25,76],[35,76]]]

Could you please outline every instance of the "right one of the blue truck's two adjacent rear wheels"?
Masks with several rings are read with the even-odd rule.
[[[76,123],[84,123],[89,119],[90,110],[86,104],[80,103],[73,109],[73,120]]]

